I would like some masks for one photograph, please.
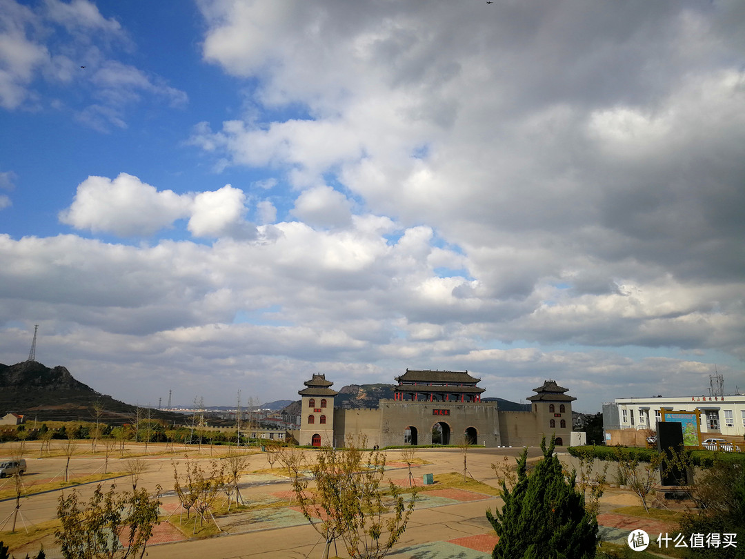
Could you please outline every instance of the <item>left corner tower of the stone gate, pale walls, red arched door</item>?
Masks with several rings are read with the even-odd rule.
[[[334,440],[334,397],[339,394],[331,389],[334,384],[325,374],[314,374],[299,391],[300,408],[299,443],[306,446],[331,446]]]

